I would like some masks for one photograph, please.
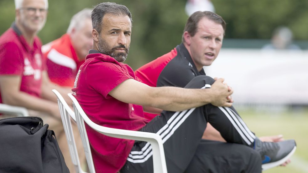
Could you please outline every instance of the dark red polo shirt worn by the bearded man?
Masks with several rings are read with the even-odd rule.
[[[81,65],[72,89],[82,109],[98,125],[125,130],[139,130],[148,122],[142,106],[121,102],[108,93],[127,79],[133,70],[114,58],[90,50]],[[133,140],[112,138],[86,125],[91,153],[97,173],[115,173],[126,162]]]

